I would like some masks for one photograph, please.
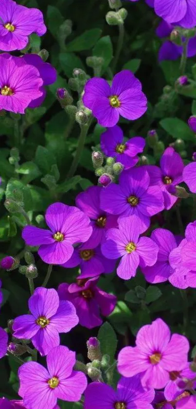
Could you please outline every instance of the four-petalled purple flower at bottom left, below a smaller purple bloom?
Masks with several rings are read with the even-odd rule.
[[[37,362],[27,362],[18,370],[18,394],[28,409],[54,409],[57,399],[76,402],[87,387],[84,373],[73,370],[75,352],[53,348],[46,358],[48,370]]]

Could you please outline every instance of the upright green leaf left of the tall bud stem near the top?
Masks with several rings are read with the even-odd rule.
[[[102,37],[97,41],[92,50],[92,55],[96,57],[102,57],[104,59],[101,71],[101,73],[103,74],[113,57],[113,46],[109,36]]]

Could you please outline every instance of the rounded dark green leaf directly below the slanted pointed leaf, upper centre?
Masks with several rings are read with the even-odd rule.
[[[60,53],[59,61],[64,74],[67,77],[72,77],[74,68],[85,69],[82,60],[73,53]]]

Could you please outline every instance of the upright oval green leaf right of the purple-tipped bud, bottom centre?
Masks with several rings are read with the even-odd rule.
[[[117,336],[116,332],[113,330],[112,326],[105,322],[98,332],[98,340],[100,342],[102,354],[107,354],[110,356],[110,362],[114,360],[114,355],[117,348]]]

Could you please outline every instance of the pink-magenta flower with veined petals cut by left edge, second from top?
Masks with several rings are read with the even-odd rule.
[[[43,80],[23,58],[0,55],[0,109],[24,114],[29,104],[42,97]]]

